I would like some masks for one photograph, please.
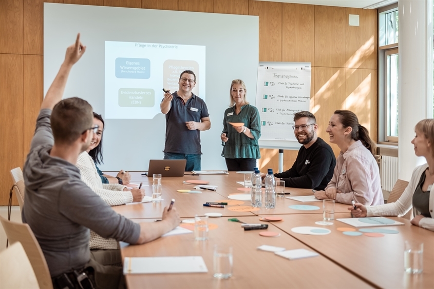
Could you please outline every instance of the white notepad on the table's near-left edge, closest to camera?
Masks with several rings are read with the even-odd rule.
[[[206,273],[202,256],[125,257],[124,275],[157,273]]]

